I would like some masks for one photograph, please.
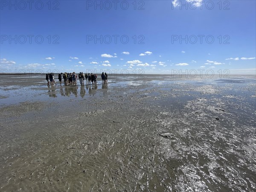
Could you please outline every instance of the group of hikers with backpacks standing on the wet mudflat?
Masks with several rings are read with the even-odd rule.
[[[102,83],[107,83],[108,82],[108,74],[102,72],[101,75],[102,78]],[[65,85],[77,85],[77,76],[76,73],[59,73],[58,74],[58,80],[60,82],[61,85],[61,81],[62,79],[64,79],[64,84]],[[86,84],[90,85],[90,83],[92,83],[92,85],[95,85],[97,83],[97,75],[93,74],[93,73],[88,73],[84,74],[83,72],[80,72],[78,75],[78,79],[80,81],[80,85],[84,85],[84,80],[86,80]],[[54,80],[54,74],[53,73],[47,73],[46,74],[46,80],[47,80],[47,86],[54,86],[54,84],[56,85],[56,82]]]

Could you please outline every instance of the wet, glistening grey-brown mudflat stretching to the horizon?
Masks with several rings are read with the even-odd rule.
[[[1,192],[256,191],[255,76],[46,84],[1,76]]]

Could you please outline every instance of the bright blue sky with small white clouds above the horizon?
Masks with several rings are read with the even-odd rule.
[[[0,8],[2,73],[256,73],[255,0],[11,3]]]

